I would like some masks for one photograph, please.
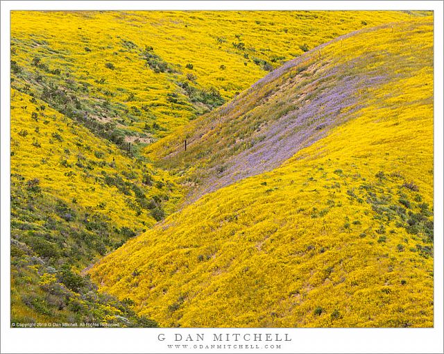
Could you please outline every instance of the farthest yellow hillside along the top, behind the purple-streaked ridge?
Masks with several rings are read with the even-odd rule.
[[[114,142],[148,143],[232,99],[266,70],[303,53],[300,47],[409,17],[390,11],[12,12],[12,86],[44,96],[83,124],[86,112],[87,126]]]

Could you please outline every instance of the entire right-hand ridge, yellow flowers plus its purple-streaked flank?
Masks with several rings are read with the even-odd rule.
[[[159,143],[184,178],[207,183],[216,163],[250,177],[220,179],[92,280],[167,327],[433,326],[432,31],[429,17],[345,37],[184,130],[187,153]],[[234,149],[262,134],[271,153]]]

